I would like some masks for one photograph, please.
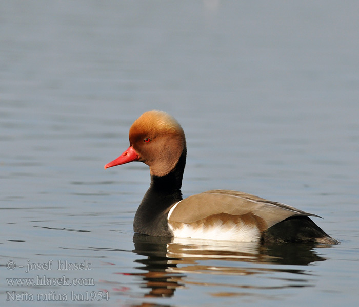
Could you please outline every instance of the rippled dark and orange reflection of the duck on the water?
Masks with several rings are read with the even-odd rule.
[[[307,266],[313,262],[326,260],[326,258],[316,253],[315,248],[321,246],[314,243],[257,244],[214,242],[211,240],[151,237],[142,234],[135,234],[133,242],[135,247],[133,252],[145,257],[135,261],[143,265],[136,267],[136,269],[143,272],[131,275],[142,277],[144,282],[142,287],[149,289],[145,297],[171,297],[177,288],[189,287],[191,284],[201,285],[201,283],[188,280],[187,276],[189,274],[248,276],[285,272],[300,274],[300,279],[303,281],[303,275],[310,275],[306,269],[271,265]],[[328,246],[326,245],[325,247]],[[253,265],[248,266],[248,262],[251,262]],[[203,286],[224,285],[203,282]],[[268,286],[262,285],[258,287],[248,284],[226,284],[226,286],[243,289],[278,288],[269,284]],[[305,286],[312,285],[302,284],[300,287]],[[288,287],[288,285],[281,288],[285,287]],[[289,287],[298,287],[298,285],[292,282]]]

